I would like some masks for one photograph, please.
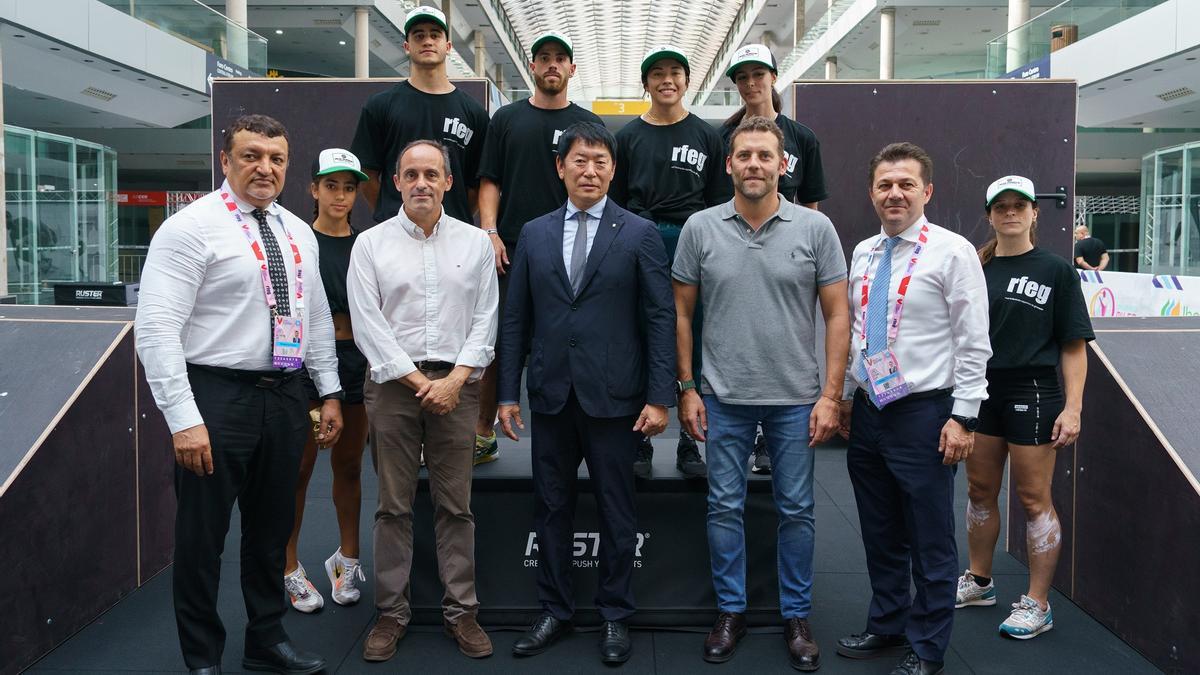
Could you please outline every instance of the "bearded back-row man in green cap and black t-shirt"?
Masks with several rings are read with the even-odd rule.
[[[558,137],[577,121],[602,124],[594,113],[566,98],[568,82],[575,74],[571,40],[545,32],[534,40],[532,52],[533,96],[496,110],[479,165],[479,225],[491,235],[496,249],[499,317],[504,315],[508,295],[509,251],[516,250],[521,228],[566,203],[566,190],[554,166]],[[496,407],[496,362],[492,362],[479,389],[476,465],[499,458]]]

